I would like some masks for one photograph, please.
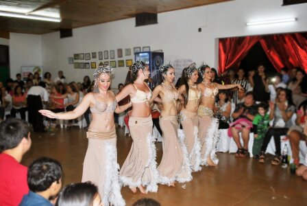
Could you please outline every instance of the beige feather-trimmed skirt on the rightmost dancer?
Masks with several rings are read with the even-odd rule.
[[[219,163],[217,159],[217,141],[219,140],[219,121],[213,117],[211,108],[199,106],[199,133],[198,137],[201,143],[201,165],[207,165],[207,159],[214,164]]]

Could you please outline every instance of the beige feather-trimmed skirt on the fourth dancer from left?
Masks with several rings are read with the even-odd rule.
[[[201,170],[200,142],[198,139],[198,117],[197,113],[181,111],[179,115],[182,124],[182,130],[179,130],[178,136],[184,138],[184,144],[188,150],[188,159],[193,172]]]

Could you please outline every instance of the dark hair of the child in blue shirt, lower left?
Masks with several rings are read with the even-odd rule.
[[[60,162],[48,157],[36,159],[27,169],[27,185],[32,192],[47,190],[55,181],[62,177]]]

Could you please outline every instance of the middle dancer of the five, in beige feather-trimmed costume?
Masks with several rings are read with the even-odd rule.
[[[151,99],[160,95],[163,107],[159,121],[163,133],[163,156],[158,166],[159,182],[175,187],[175,181],[184,183],[192,180],[184,136],[178,138],[177,100],[184,100],[173,85],[175,69],[167,64],[160,67],[160,72],[164,82],[153,90]]]

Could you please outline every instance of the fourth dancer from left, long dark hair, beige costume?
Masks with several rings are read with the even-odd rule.
[[[197,87],[198,72],[195,63],[182,71],[182,86],[178,89],[180,95],[184,97],[184,106],[180,111],[179,120],[182,124],[184,134],[180,130],[179,136],[185,136],[185,144],[188,149],[188,158],[194,172],[201,170],[200,165],[200,143],[197,137],[198,117],[197,108],[201,91]]]

